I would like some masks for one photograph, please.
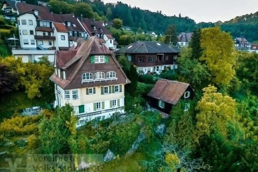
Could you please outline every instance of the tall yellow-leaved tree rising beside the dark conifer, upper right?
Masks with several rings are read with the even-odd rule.
[[[234,43],[231,35],[219,27],[206,28],[201,31],[203,54],[200,60],[206,62],[213,83],[227,85],[235,75],[236,62]]]

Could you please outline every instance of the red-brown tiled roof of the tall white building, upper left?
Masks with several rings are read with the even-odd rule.
[[[37,16],[38,19],[45,20],[45,21],[54,21],[54,18],[52,17],[47,7],[17,2],[16,8],[17,8],[17,11],[19,12],[19,15],[23,13],[34,14],[34,11],[37,10],[39,11],[39,16]]]

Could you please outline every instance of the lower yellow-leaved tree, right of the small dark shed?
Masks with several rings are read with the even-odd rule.
[[[200,137],[209,135],[212,131],[226,137],[228,134],[227,124],[237,121],[236,102],[227,95],[217,92],[217,88],[209,85],[203,88],[202,99],[198,102],[196,109],[196,128],[194,140],[198,143]]]

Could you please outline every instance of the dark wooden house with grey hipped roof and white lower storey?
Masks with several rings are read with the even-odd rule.
[[[115,51],[118,55],[126,55],[142,74],[158,73],[162,70],[177,69],[176,59],[179,49],[157,41],[137,41]]]

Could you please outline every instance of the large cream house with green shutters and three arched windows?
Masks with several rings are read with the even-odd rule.
[[[78,39],[55,53],[55,106],[73,105],[77,127],[124,113],[124,86],[130,83],[113,51],[96,36]]]

